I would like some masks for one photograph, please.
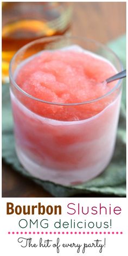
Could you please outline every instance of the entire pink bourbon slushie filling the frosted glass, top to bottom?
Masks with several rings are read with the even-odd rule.
[[[117,71],[106,59],[78,46],[44,51],[15,72],[27,94],[11,91],[16,151],[32,175],[79,184],[100,174],[111,160],[118,125]],[[106,95],[104,97],[104,95]]]

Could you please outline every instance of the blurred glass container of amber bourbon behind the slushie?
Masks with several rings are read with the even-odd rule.
[[[9,62],[18,49],[40,37],[69,33],[71,16],[69,2],[3,2],[2,81],[9,82]]]

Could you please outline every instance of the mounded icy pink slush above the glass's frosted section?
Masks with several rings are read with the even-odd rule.
[[[18,70],[16,82],[25,92],[51,103],[82,103],[109,92],[115,83],[101,83],[116,73],[116,69],[98,55],[81,51],[75,46],[68,50],[44,51],[33,56]],[[112,98],[94,104],[71,107],[42,104],[29,100],[28,108],[44,117],[56,120],[85,119],[103,110]]]

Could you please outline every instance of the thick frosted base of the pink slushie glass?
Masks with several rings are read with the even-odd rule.
[[[91,180],[98,176],[110,163],[111,157],[107,162],[98,163],[91,167],[86,167],[81,170],[54,170],[35,163],[27,157],[23,151],[16,146],[16,152],[21,164],[32,176],[40,178],[43,181],[51,181],[61,185],[77,185]]]

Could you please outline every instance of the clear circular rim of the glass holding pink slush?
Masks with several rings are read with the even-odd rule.
[[[10,82],[12,82],[12,84],[16,87],[16,89],[18,89],[18,91],[20,91],[21,93],[23,93],[26,97],[28,97],[30,99],[33,99],[33,100],[36,100],[36,101],[40,101],[40,102],[45,103],[45,104],[60,105],[60,106],[78,106],[78,105],[91,104],[91,103],[94,103],[94,102],[96,102],[98,100],[104,99],[105,97],[107,97],[108,95],[110,95],[111,93],[116,91],[116,89],[119,88],[119,86],[121,85],[121,79],[119,79],[117,81],[116,85],[109,92],[107,92],[106,94],[104,94],[104,95],[102,95],[102,96],[100,96],[98,98],[95,98],[95,99],[92,99],[92,100],[81,101],[79,103],[56,103],[56,102],[46,101],[46,100],[43,100],[43,99],[40,99],[40,98],[36,98],[33,95],[25,92],[20,86],[18,86],[17,83],[15,82],[15,79],[12,76],[12,70],[11,70],[12,63],[15,61],[15,58],[16,58],[17,54],[22,52],[22,50],[25,50],[26,48],[29,48],[30,46],[33,46],[33,44],[35,44],[35,43],[44,42],[46,40],[50,41],[52,39],[61,39],[61,38],[62,39],[77,39],[77,40],[79,39],[79,40],[83,40],[83,41],[84,40],[85,41],[90,41],[92,43],[97,44],[99,47],[104,48],[105,50],[107,50],[108,52],[113,54],[114,57],[116,57],[117,61],[119,62],[119,65],[120,65],[120,72],[123,71],[123,64],[121,63],[121,61],[120,61],[119,57],[117,56],[117,54],[114,53],[113,50],[111,50],[109,47],[107,47],[104,44],[99,43],[99,42],[97,42],[97,41],[95,41],[93,39],[88,39],[87,37],[83,37],[83,36],[63,36],[63,35],[42,37],[41,39],[37,39],[37,40],[31,41],[30,43],[27,43],[27,44],[25,44],[25,46],[21,47],[14,54],[14,56],[12,57],[12,59],[10,61],[10,65],[9,65],[9,78],[10,78]]]

